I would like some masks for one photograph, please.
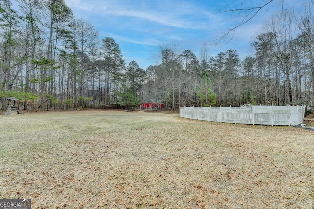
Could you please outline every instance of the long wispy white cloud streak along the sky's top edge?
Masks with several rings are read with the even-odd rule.
[[[78,8],[86,12],[94,12],[100,16],[123,16],[139,18],[164,26],[178,28],[201,29],[208,27],[208,23],[217,18],[202,8],[192,3],[180,0],[160,0],[157,3],[145,3],[146,1],[124,1],[124,0],[66,0],[71,8]],[[202,17],[203,22],[200,22]],[[197,20],[197,21],[195,21]]]

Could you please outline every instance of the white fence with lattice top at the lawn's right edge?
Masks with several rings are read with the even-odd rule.
[[[304,106],[180,107],[180,117],[235,124],[302,124]]]

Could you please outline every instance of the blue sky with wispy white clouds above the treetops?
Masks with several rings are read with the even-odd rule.
[[[269,10],[274,11],[274,5],[237,28],[234,36],[215,44],[241,21],[238,15],[218,12],[236,1],[241,0],[65,0],[65,3],[76,19],[87,20],[98,29],[101,39],[113,38],[127,65],[134,60],[146,69],[160,64],[161,47],[176,47],[179,52],[188,49],[198,56],[206,44],[211,56],[228,49],[236,50],[241,59],[252,54],[250,43],[271,16]]]

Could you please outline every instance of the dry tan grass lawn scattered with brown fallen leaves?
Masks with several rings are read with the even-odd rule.
[[[0,115],[0,198],[32,208],[314,208],[314,131],[178,114]]]

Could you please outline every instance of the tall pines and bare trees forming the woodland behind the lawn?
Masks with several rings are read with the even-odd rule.
[[[236,50],[199,56],[161,46],[161,63],[125,63],[119,44],[75,19],[64,0],[0,0],[0,98],[22,108],[137,106],[153,98],[165,107],[306,104],[314,100],[313,4],[282,11],[265,23],[243,60]],[[21,106],[20,106],[21,108]]]

